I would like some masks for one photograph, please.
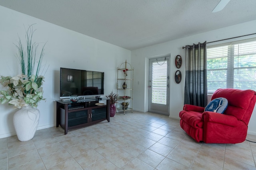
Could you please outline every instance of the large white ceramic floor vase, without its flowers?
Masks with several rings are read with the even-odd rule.
[[[13,124],[20,141],[29,141],[36,133],[40,111],[31,106],[25,106],[14,113]]]

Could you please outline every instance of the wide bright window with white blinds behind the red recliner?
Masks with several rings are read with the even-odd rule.
[[[256,39],[207,47],[207,88],[256,90]]]

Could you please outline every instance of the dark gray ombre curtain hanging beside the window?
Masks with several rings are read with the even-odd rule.
[[[206,41],[186,45],[185,49],[185,100],[184,104],[207,105]]]

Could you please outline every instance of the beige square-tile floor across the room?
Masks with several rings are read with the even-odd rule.
[[[155,113],[116,113],[67,135],[42,129],[26,142],[0,139],[1,170],[256,170],[254,156],[256,143],[196,143],[179,120]]]

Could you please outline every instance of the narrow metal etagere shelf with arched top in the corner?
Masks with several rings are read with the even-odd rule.
[[[132,112],[133,106],[133,73],[134,68],[132,68],[130,63],[120,64],[117,68],[117,95],[118,103],[116,104],[116,111],[126,111],[130,110]],[[126,87],[126,85],[127,87]],[[126,96],[126,97],[125,97]],[[128,104],[128,106],[126,106]]]

